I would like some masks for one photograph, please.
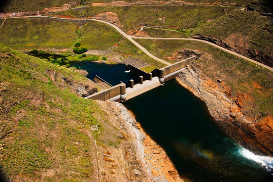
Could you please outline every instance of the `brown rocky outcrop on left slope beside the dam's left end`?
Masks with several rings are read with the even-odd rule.
[[[82,83],[75,79],[59,75],[56,71],[52,70],[46,70],[45,72],[56,86],[63,88],[68,85],[71,90],[80,97],[87,97],[97,93],[97,88],[91,83]],[[57,78],[61,79],[62,82],[57,82]]]

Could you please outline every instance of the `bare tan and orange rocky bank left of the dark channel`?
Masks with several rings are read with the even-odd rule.
[[[124,135],[124,140],[119,144],[119,148],[115,150],[118,151],[116,153],[121,154],[121,160],[124,160],[125,163],[123,162],[123,166],[117,164],[122,167],[116,168],[115,174],[119,173],[117,171],[126,168],[128,170],[127,175],[130,174],[130,180],[183,181],[166,153],[143,131],[132,113],[120,103],[111,101],[96,102],[109,116],[109,122]],[[105,159],[100,162],[101,168],[104,168],[102,174],[104,174],[105,179],[111,179],[117,175],[112,174],[111,171],[109,172],[111,168],[107,168],[107,163]],[[131,165],[132,163],[137,165]],[[125,174],[126,172],[119,175],[118,179],[120,181],[125,179]]]

